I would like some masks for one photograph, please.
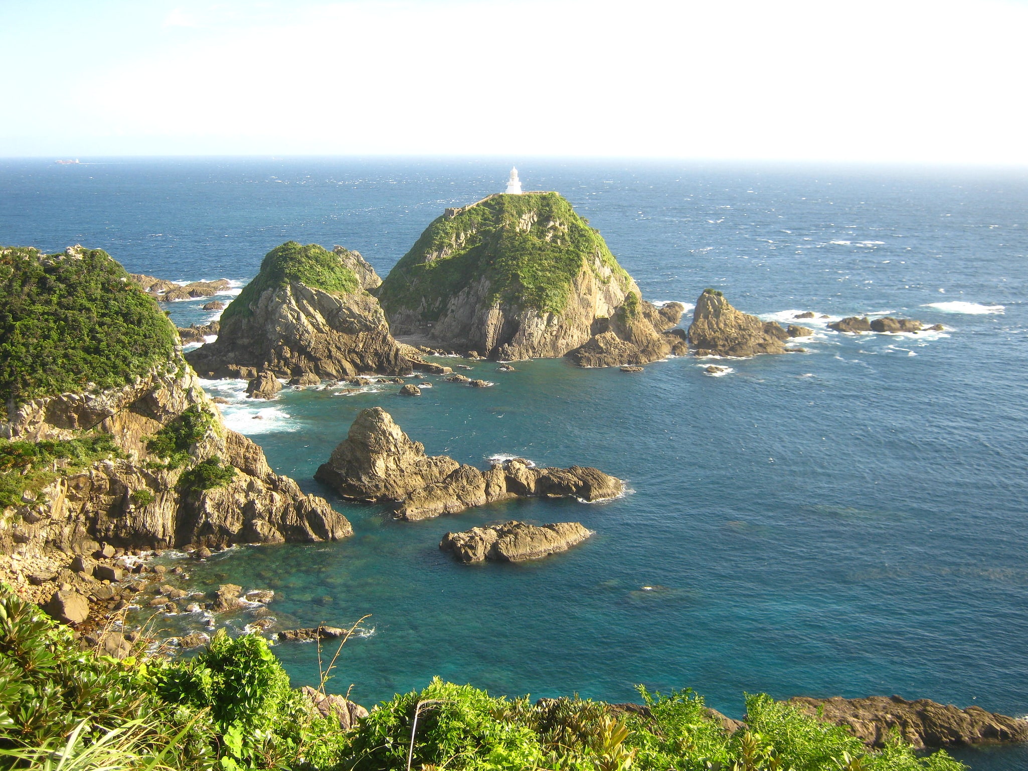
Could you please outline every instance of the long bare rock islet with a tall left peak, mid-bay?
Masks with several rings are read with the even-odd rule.
[[[425,445],[404,434],[380,407],[357,416],[315,479],[344,498],[391,503],[394,515],[406,520],[517,497],[599,501],[624,490],[620,479],[588,467],[538,469],[515,458],[483,472],[448,455],[426,455]]]

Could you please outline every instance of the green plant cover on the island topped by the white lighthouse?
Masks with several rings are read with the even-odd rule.
[[[448,298],[481,278],[490,301],[560,314],[583,265],[594,262],[627,286],[597,230],[557,193],[495,195],[455,217],[437,218],[390,270],[377,295],[387,313],[416,310],[435,321]],[[602,279],[601,279],[602,280]]]

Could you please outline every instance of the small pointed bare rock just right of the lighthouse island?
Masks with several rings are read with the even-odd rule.
[[[697,355],[744,357],[783,354],[788,333],[775,322],[736,310],[715,289],[705,289],[696,300],[689,342]]]

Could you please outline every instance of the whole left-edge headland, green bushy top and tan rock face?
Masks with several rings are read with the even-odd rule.
[[[0,553],[334,540],[328,503],[229,431],[156,302],[98,251],[0,253]],[[13,571],[16,575],[16,571]],[[23,579],[24,581],[24,579]]]

